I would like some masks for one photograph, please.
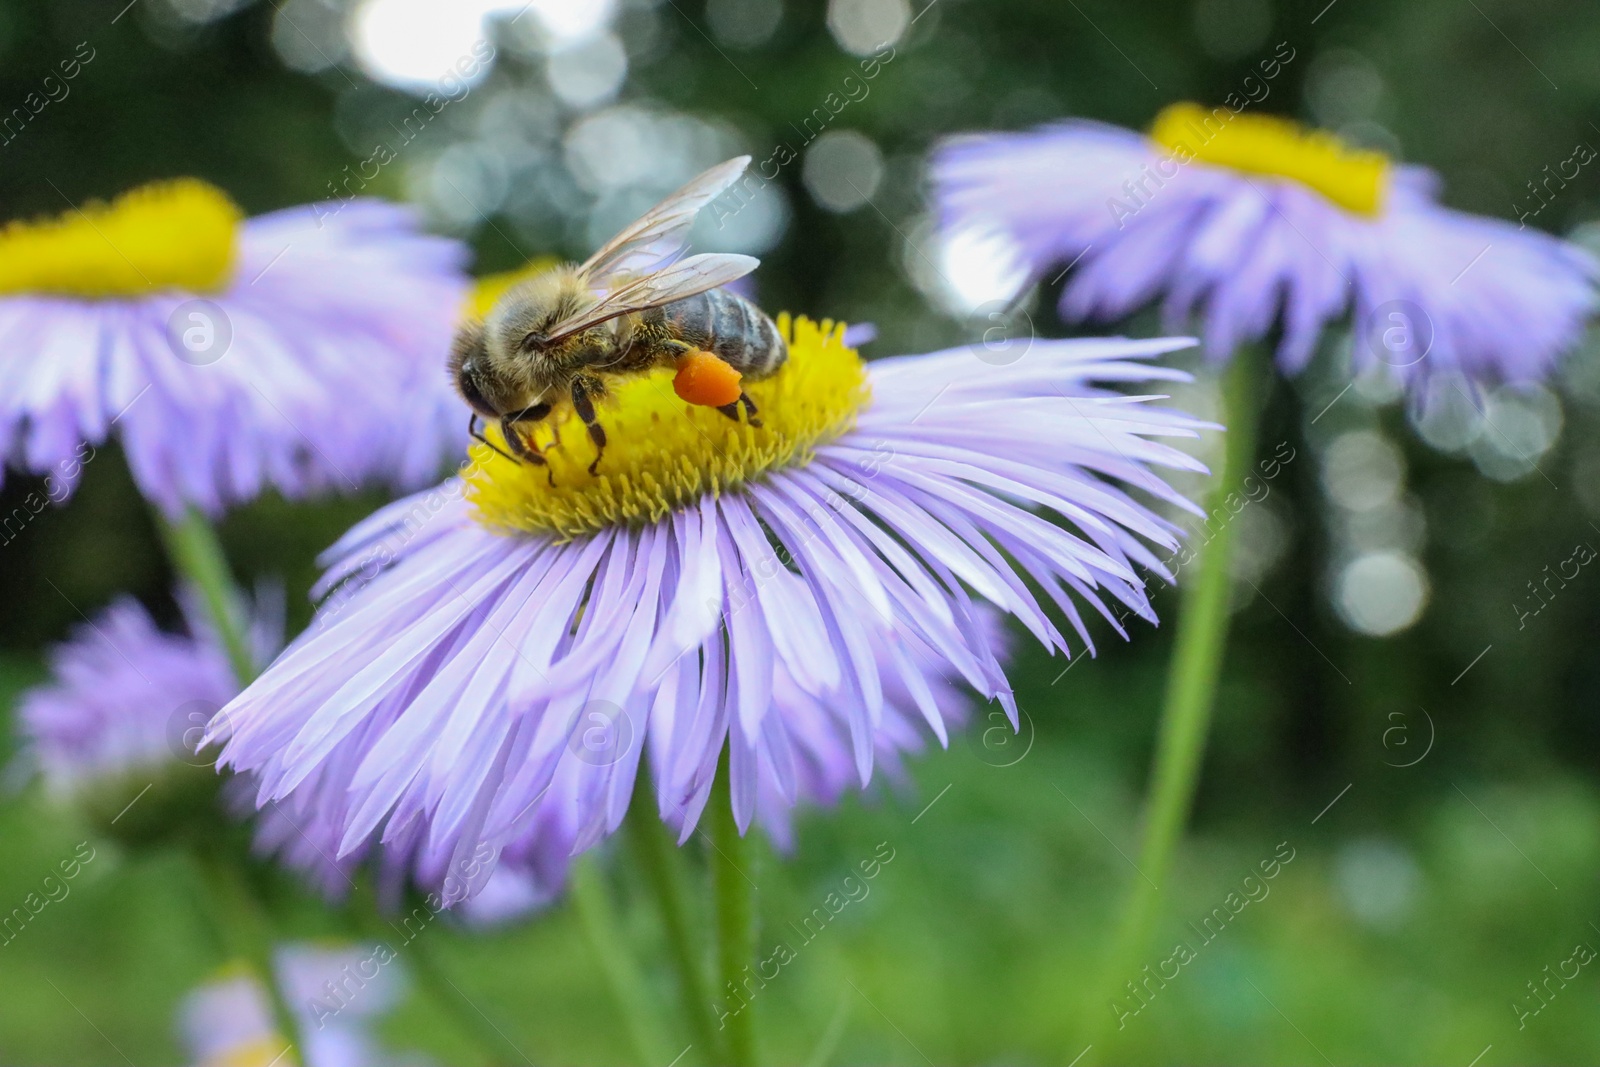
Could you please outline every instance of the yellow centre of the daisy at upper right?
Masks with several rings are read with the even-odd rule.
[[[1200,160],[1246,174],[1288,178],[1355,214],[1382,213],[1389,157],[1350,147],[1326,130],[1186,102],[1162,109],[1150,125],[1150,139],[1184,163]]]

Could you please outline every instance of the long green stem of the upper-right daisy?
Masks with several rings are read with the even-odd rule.
[[[1259,354],[1245,347],[1235,352],[1222,379],[1222,424],[1226,443],[1222,474],[1206,498],[1206,525],[1195,534],[1195,573],[1179,581],[1178,635],[1166,675],[1166,697],[1162,705],[1160,736],[1150,792],[1146,800],[1144,841],[1139,848],[1139,877],[1117,928],[1117,941],[1109,957],[1104,990],[1109,997],[1090,1006],[1093,1033],[1117,1022],[1107,1000],[1123,997],[1128,981],[1136,981],[1146,947],[1160,918],[1162,886],[1171,873],[1173,854],[1182,837],[1194,803],[1195,781],[1205,755],[1206,731],[1216,702],[1218,677],[1227,646],[1229,585],[1238,523],[1226,506],[1230,494],[1243,488],[1256,456],[1258,397],[1261,374]],[[1221,520],[1213,523],[1210,517]]]

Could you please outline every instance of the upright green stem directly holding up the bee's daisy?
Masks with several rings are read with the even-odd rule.
[[[717,897],[717,965],[723,990],[746,992],[746,977],[755,961],[755,886],[747,872],[752,867],[752,841],[739,837],[733,821],[733,793],[728,785],[728,752],[717,766],[717,784],[710,805],[712,888]],[[728,995],[728,992],[725,992]],[[734,998],[736,1000],[736,998]],[[726,1062],[731,1067],[755,1065],[755,1001],[746,1000],[739,1009],[728,1003],[725,1022]]]

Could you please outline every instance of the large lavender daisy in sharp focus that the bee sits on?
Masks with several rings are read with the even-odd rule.
[[[742,830],[763,797],[835,795],[835,744],[866,784],[907,718],[942,742],[941,678],[1016,721],[981,601],[1062,653],[1045,603],[1082,646],[1080,605],[1154,621],[1134,568],[1165,576],[1150,545],[1176,526],[1128,490],[1187,507],[1154,469],[1198,464],[1152,438],[1202,424],[1098,382],[1182,379],[1141,360],[1189,342],[869,368],[842,328],[779,328],[789,362],[746,386],[760,429],[685,406],[667,371],[622,379],[597,475],[558,414],[547,466],[477,446],[352,530],[318,619],[214,720],[221,763],[261,805],[307,797],[339,854],[414,846],[437,885],[542,825],[578,849],[614,830],[645,752],[682,838],[725,747]]]

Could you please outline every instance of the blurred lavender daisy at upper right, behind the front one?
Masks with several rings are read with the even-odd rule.
[[[1358,371],[1536,381],[1595,309],[1600,264],[1578,246],[1442,206],[1424,168],[1227,107],[1173,104],[1149,134],[962,138],[933,179],[947,234],[998,235],[1030,280],[1077,264],[1062,317],[1160,299],[1168,330],[1198,315],[1218,360],[1282,323],[1286,374],[1354,309]]]

